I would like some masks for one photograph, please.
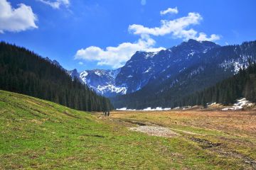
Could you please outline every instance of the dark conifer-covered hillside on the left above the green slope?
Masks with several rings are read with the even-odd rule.
[[[23,47],[0,42],[0,89],[81,111],[111,109],[108,98],[70,78],[63,69]]]

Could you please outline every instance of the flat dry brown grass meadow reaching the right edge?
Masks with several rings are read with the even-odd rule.
[[[255,111],[114,111],[111,118],[256,135]],[[241,134],[242,133],[242,134]]]

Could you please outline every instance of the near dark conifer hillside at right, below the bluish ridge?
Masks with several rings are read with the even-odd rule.
[[[240,69],[234,77],[220,81],[215,86],[177,100],[176,106],[195,106],[206,103],[234,103],[237,98],[245,97],[256,102],[256,64]]]

